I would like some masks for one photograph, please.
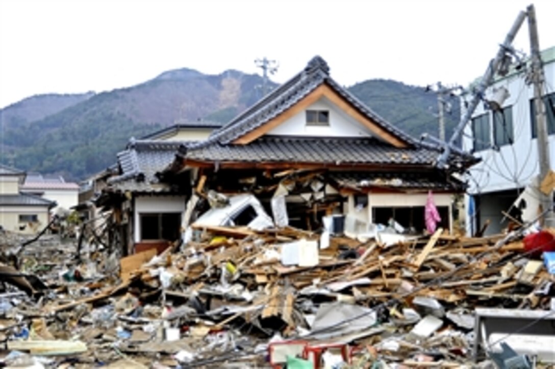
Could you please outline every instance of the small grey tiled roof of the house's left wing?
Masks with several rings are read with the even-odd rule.
[[[159,192],[169,189],[155,176],[170,165],[180,145],[188,142],[133,140],[118,153],[120,174],[108,183],[122,191]]]

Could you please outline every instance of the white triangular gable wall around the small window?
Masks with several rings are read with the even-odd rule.
[[[306,110],[328,110],[330,112],[329,126],[307,126]],[[351,116],[345,114],[333,102],[322,97],[305,110],[292,116],[279,126],[270,130],[267,135],[279,136],[319,136],[319,137],[368,137],[371,131]]]

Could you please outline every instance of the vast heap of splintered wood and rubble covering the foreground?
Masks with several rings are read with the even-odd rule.
[[[501,360],[487,337],[477,342],[476,309],[534,311],[535,322],[553,313],[553,253],[542,260],[525,249],[522,229],[470,238],[440,228],[388,245],[341,234],[321,242],[291,227],[191,229],[180,247],[115,264],[102,244],[85,244],[80,255],[77,240],[56,235],[27,245],[8,274],[45,288],[0,294],[2,362],[473,367]],[[4,255],[23,242],[0,235]]]

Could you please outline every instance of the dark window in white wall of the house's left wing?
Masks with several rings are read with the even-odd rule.
[[[141,240],[179,239],[181,213],[148,213],[140,214]]]

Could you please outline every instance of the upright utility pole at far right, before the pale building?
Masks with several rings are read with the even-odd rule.
[[[528,14],[528,33],[530,36],[530,54],[532,59],[531,80],[534,84],[534,111],[536,112],[536,130],[538,132],[538,158],[539,158],[539,181],[547,176],[551,170],[549,165],[549,139],[547,135],[546,106],[543,103],[542,91],[544,83],[542,59],[539,53],[539,37],[536,22],[536,9],[533,5],[526,9]],[[553,227],[555,219],[553,219],[553,197],[539,191],[541,194],[542,211],[547,213],[543,217],[543,225],[545,227]]]

